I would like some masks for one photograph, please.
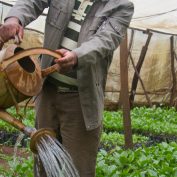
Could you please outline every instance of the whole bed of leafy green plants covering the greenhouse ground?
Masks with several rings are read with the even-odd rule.
[[[9,109],[15,115],[15,110]],[[25,124],[34,126],[35,113],[27,110]],[[136,107],[131,110],[134,148],[125,150],[122,111],[104,112],[103,133],[98,150],[96,177],[176,177],[177,111],[175,108]],[[19,132],[0,121],[1,147],[13,147]],[[29,139],[18,145],[14,159],[0,150],[0,177],[33,176]],[[22,154],[22,155],[21,155]],[[6,165],[2,165],[6,162]],[[22,163],[21,163],[22,162]]]

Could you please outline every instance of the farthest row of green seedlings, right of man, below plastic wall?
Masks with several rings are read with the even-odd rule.
[[[133,132],[177,135],[177,112],[174,108],[134,108],[131,111]],[[104,113],[105,131],[123,131],[122,111]]]

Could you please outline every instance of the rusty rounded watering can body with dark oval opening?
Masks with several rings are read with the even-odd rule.
[[[23,49],[16,45],[3,49],[0,52],[1,64],[21,50]],[[0,108],[6,109],[37,95],[41,90],[42,80],[40,65],[33,57],[24,57],[1,69]]]

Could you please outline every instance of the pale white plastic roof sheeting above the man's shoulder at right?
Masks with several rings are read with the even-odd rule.
[[[135,12],[130,27],[177,35],[177,0],[131,0]]]

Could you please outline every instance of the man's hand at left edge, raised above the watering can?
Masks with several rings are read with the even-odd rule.
[[[8,18],[2,26],[0,26],[1,42],[5,43],[10,39],[14,39],[16,36],[19,42],[23,39],[24,29],[20,25],[19,20],[16,17]]]

